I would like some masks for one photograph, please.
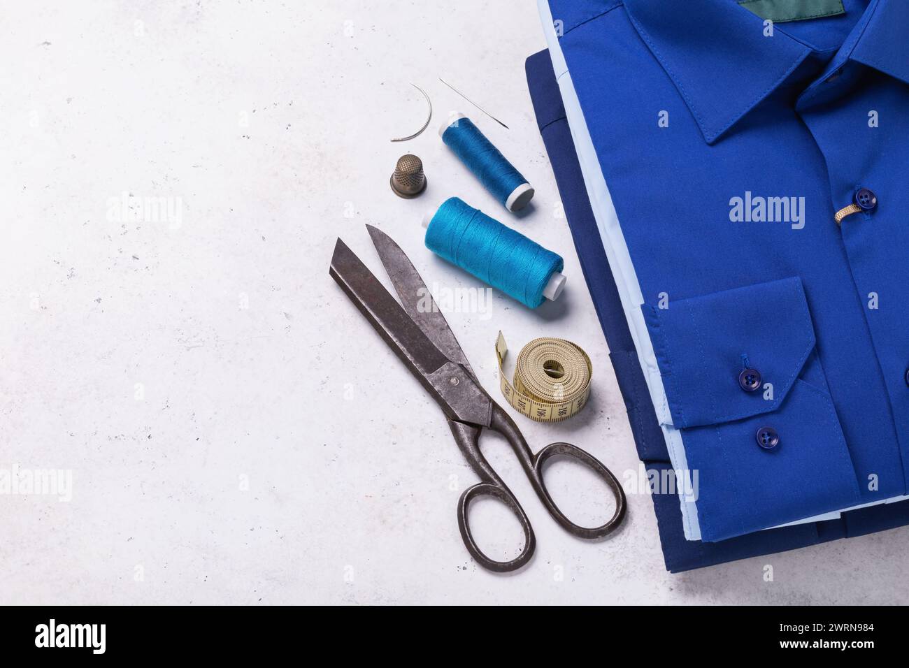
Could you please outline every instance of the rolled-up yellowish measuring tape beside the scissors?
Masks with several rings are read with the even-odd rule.
[[[534,339],[517,354],[512,383],[502,369],[507,353],[499,332],[495,340],[499,387],[513,408],[536,422],[561,422],[584,408],[594,368],[579,345],[564,339]]]

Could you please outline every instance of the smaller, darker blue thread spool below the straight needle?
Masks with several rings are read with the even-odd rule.
[[[439,136],[506,209],[520,211],[530,202],[534,188],[467,116],[456,115]]]

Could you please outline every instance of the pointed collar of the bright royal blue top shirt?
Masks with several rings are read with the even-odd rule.
[[[812,53],[731,0],[624,0],[625,9],[713,144]],[[909,84],[909,1],[872,0],[841,50]]]

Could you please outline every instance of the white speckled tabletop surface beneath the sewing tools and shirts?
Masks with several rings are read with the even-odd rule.
[[[373,223],[434,291],[477,287],[422,244],[420,217],[453,194],[564,254],[557,302],[531,312],[493,294],[488,310],[449,321],[494,392],[499,329],[515,351],[542,335],[583,345],[594,363],[584,414],[519,424],[535,448],[571,441],[616,474],[634,470],[524,83],[525,56],[544,46],[533,3],[30,3],[3,14],[0,469],[72,469],[74,490],[70,503],[0,496],[0,603],[907,599],[905,529],[670,575],[651,500],[631,494],[621,533],[574,540],[492,438],[486,454],[524,503],[537,553],[507,577],[467,558],[454,505],[474,475],[327,270],[341,235],[382,275],[363,227]],[[436,122],[464,111],[522,170],[532,211],[505,212],[435,125],[388,142],[424,120],[410,81]],[[388,187],[407,152],[429,182],[415,200]],[[117,220],[123,193],[140,213],[137,198],[170,198],[181,217]],[[566,509],[595,505],[585,477],[549,473]],[[476,519],[496,543],[500,515],[488,510]]]

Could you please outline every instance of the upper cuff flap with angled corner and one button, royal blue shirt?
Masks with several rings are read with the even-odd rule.
[[[679,428],[776,410],[814,349],[798,277],[641,310]]]

